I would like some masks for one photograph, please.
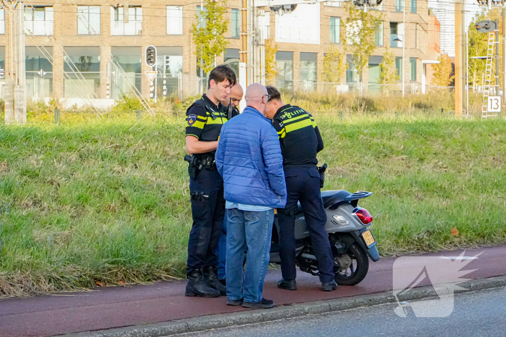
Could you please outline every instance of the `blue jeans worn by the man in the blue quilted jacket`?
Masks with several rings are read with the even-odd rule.
[[[264,279],[270,260],[274,210],[225,211],[227,223],[227,298],[256,303],[262,301]],[[244,251],[246,269],[243,271]]]

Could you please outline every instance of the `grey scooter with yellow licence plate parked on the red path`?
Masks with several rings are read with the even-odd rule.
[[[326,165],[319,168],[320,172],[324,172],[325,168]],[[358,206],[358,201],[372,196],[372,192],[350,193],[346,190],[328,190],[322,191],[321,196],[327,213],[325,229],[334,256],[335,281],[340,285],[358,284],[367,275],[368,257],[374,262],[379,260],[376,239],[368,228],[372,224],[372,217],[366,209]],[[302,271],[318,275],[318,262],[313,254],[311,238],[300,203],[296,214],[297,265]],[[279,226],[275,218],[270,262],[276,264],[281,262],[278,240]]]

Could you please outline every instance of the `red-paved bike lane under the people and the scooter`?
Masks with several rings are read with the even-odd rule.
[[[462,252],[446,251],[421,256],[454,260],[459,259]],[[474,257],[481,252],[481,255],[472,258],[472,261],[462,268],[476,269],[463,276],[464,278],[506,275],[506,245],[467,250],[465,257]],[[360,284],[339,286],[338,290],[329,293],[320,291],[317,276],[301,271],[298,271],[297,275],[297,291],[279,290],[276,284],[281,272],[269,270],[264,297],[274,300],[277,306],[282,306],[391,291],[396,259],[394,257],[382,258],[378,262],[369,261],[369,272]],[[415,267],[407,264],[402,268]],[[429,283],[426,280],[417,286],[430,285]],[[184,280],[158,282],[95,288],[82,293],[3,300],[0,301],[0,336],[53,336],[249,310],[227,306],[226,297],[185,297],[185,284]]]

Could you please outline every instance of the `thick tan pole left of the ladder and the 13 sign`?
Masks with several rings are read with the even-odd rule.
[[[462,37],[463,25],[466,22],[463,11],[464,0],[455,0],[455,116],[462,116],[463,80],[462,76]]]

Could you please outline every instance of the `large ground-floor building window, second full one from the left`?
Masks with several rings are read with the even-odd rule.
[[[64,97],[100,97],[100,47],[64,47],[63,50]]]

